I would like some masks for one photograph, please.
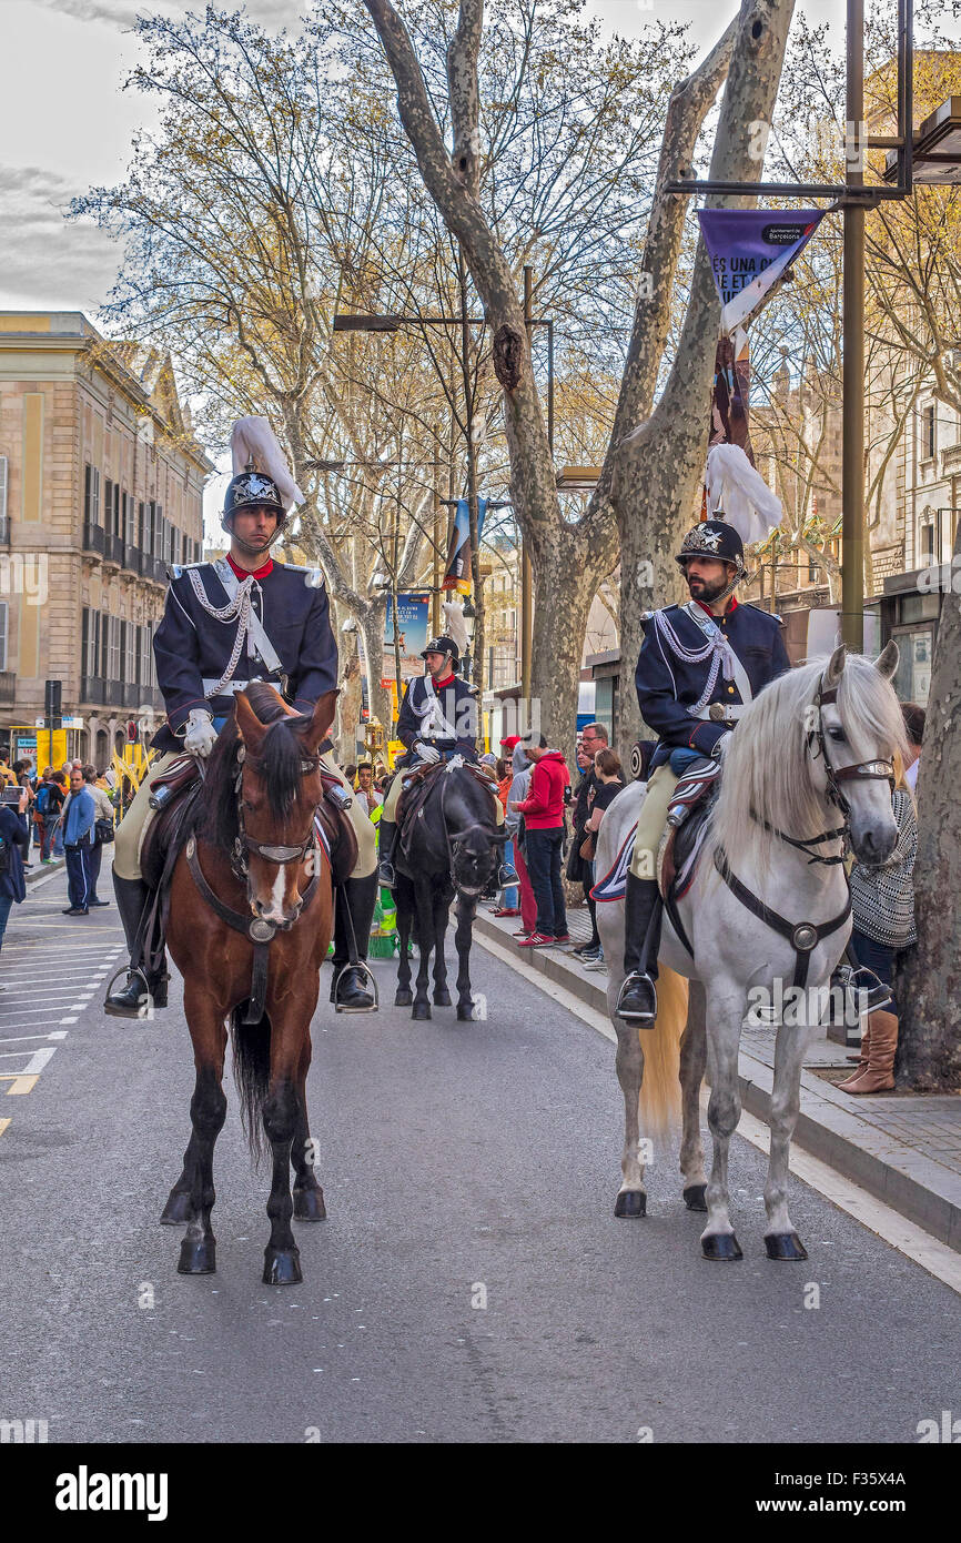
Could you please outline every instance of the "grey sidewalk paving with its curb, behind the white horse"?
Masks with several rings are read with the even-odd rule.
[[[571,937],[589,937],[585,910],[569,910]],[[495,921],[481,907],[478,932],[514,950],[514,918]],[[565,986],[606,1015],[606,974],[586,971],[569,949],[523,949],[518,960]],[[961,1253],[961,1097],[875,1094],[853,1097],[835,1080],[850,1071],[845,1048],[827,1035],[811,1042],[801,1074],[801,1114],[794,1140],[893,1211]],[[744,1029],[740,1099],[767,1122],[774,1068],[774,1029]]]

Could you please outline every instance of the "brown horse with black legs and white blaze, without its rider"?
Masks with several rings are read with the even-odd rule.
[[[238,693],[236,716],[207,762],[199,813],[174,869],[167,940],[184,977],[197,1080],[184,1173],[160,1219],[187,1222],[182,1275],[216,1270],[213,1148],[227,1114],[228,1020],[247,1140],[259,1157],[265,1136],[273,1159],[268,1285],[302,1279],[292,1214],[304,1222],[325,1216],[305,1083],[310,1020],[333,927],[330,866],[316,846],[313,816],[322,798],[318,751],[333,724],[336,694],[327,691],[305,716],[292,713],[270,685],[255,682]]]

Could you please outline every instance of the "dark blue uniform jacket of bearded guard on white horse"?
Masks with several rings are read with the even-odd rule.
[[[706,642],[703,633],[682,606],[665,606],[663,614],[685,648],[703,648]],[[671,750],[690,748],[708,756],[717,741],[734,727],[734,724],[727,722],[714,724],[708,717],[694,717],[688,711],[703,694],[711,673],[713,654],[700,663],[686,663],[660,634],[654,616],[656,613],[651,611],[643,619],[645,639],[640,645],[634,676],[643,719],[660,739],[651,758],[651,770],[663,765],[669,759]],[[714,617],[714,620],[744,665],[754,696],[764,685],[791,668],[781,636],[781,622],[776,616],[759,611],[753,605],[736,605],[734,609],[728,609],[725,616]],[[706,705],[711,702],[737,704],[740,701],[737,684],[725,680],[723,668],[720,668]]]

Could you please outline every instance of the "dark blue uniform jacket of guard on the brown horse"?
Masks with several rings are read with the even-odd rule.
[[[197,563],[204,591],[214,606],[228,596],[211,563]],[[190,582],[187,568],[171,568],[164,619],[154,636],[157,682],[167,705],[167,724],[154,734],[160,751],[177,750],[182,730],[193,708],[207,708],[214,717],[233,711],[233,696],[207,697],[204,680],[219,680],[238,636],[238,622],[210,616]],[[287,696],[298,713],[310,713],[318,697],[338,684],[336,643],[330,630],[330,608],[322,577],[315,568],[276,563],[253,586],[253,609],[281,659],[288,679]],[[270,673],[247,642],[234,667],[234,680],[270,680],[281,690],[279,671]]]

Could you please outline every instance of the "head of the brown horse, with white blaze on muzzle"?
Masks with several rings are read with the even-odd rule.
[[[301,910],[299,880],[312,852],[313,812],[324,795],[318,751],[330,733],[338,693],[310,716],[293,713],[273,687],[236,696],[238,836],[255,915],[290,927]]]

